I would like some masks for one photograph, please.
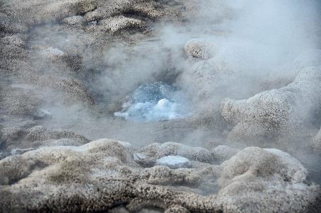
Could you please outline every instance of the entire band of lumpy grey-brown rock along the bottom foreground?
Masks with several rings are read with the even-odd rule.
[[[128,143],[100,139],[82,146],[51,146],[0,161],[0,206],[5,211],[97,212],[124,205],[129,212],[305,212],[320,187],[278,149],[249,147],[221,166],[202,170],[141,168]],[[206,175],[207,174],[207,175]],[[207,177],[207,178],[204,178]],[[185,184],[218,183],[198,195]],[[171,183],[182,187],[170,186]]]

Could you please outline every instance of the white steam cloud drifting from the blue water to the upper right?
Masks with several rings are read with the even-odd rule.
[[[99,57],[95,53],[97,47],[86,50],[84,61],[87,64],[84,65],[95,70],[95,77],[88,81],[87,86],[100,111],[107,115],[103,115],[106,128],[115,120],[114,113],[124,113],[122,104],[142,84],[164,81],[180,87],[187,96],[186,103],[192,104],[195,115],[201,110],[217,108],[222,98],[248,98],[273,88],[274,85],[262,88],[262,82],[269,78],[282,79],[286,76],[288,81],[278,85],[285,86],[297,73],[292,66],[293,60],[305,50],[320,47],[317,43],[320,34],[317,1],[199,1],[190,9],[193,18],[186,23],[158,23],[153,27],[153,38],[139,40],[134,46],[124,42],[107,46],[99,65],[92,62]],[[80,34],[82,36],[82,32]],[[69,40],[79,37],[68,35]],[[183,50],[191,39],[202,40],[212,58],[206,62],[190,62]],[[92,39],[85,41],[89,40]],[[220,84],[213,84],[214,81],[209,81],[208,85],[195,82],[192,72],[197,66],[208,69],[209,76],[214,76],[214,79],[221,78]],[[218,67],[223,67],[223,73],[216,74],[220,72]],[[224,79],[227,71],[233,72],[233,76]],[[202,90],[202,94],[197,93]],[[132,105],[129,111],[135,110],[136,106]],[[173,108],[175,105],[158,110],[161,113]],[[76,116],[76,120],[79,119],[77,113],[61,110],[59,114],[64,115],[62,117]],[[88,110],[81,112],[85,113],[81,117],[93,116],[92,113],[88,115]],[[159,119],[163,119],[163,115],[156,120]],[[93,119],[84,120],[86,123],[86,120]],[[51,121],[55,121],[54,115]],[[90,137],[96,138],[95,133]]]

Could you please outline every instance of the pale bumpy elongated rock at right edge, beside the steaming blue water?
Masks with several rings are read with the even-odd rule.
[[[221,114],[233,123],[231,139],[259,140],[295,132],[321,105],[321,67],[300,71],[293,83],[245,100],[225,99]]]

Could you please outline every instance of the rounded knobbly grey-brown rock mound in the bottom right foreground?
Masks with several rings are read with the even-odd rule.
[[[218,196],[223,195],[224,205],[240,205],[245,212],[252,212],[252,207],[247,205],[247,200],[255,202],[257,197],[258,205],[255,211],[264,211],[264,209],[274,209],[274,207],[271,208],[272,203],[280,202],[286,196],[292,200],[291,205],[280,202],[279,207],[276,207],[277,210],[275,209],[276,212],[305,212],[297,205],[297,199],[300,197],[300,202],[308,201],[305,196],[310,192],[302,188],[305,184],[310,185],[305,182],[308,173],[296,159],[283,151],[249,147],[238,152],[221,166],[223,166],[223,173],[218,180],[221,187]],[[251,179],[256,180],[252,182]],[[286,191],[281,192],[279,189],[284,186]],[[243,193],[240,189],[250,190]],[[228,195],[233,197],[233,201],[228,200]],[[259,204],[259,200],[262,199],[264,202]],[[229,202],[233,204],[228,204]]]

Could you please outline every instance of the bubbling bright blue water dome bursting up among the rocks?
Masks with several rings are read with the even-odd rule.
[[[190,114],[190,104],[184,93],[161,81],[136,88],[131,100],[122,108],[114,115],[135,121],[171,120]]]

